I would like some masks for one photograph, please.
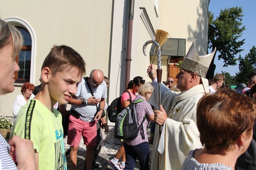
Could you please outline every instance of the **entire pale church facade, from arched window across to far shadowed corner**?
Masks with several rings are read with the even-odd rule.
[[[35,77],[31,82],[39,84],[41,65],[53,44],[73,47],[84,58],[86,75],[92,69],[101,69],[110,78],[108,100],[112,101],[125,89],[125,68],[129,1],[120,0],[57,0],[57,1],[2,1],[0,18],[19,17],[27,21],[37,40]],[[136,0],[134,4],[130,80],[140,75],[146,81],[146,69],[150,64],[149,51],[143,55],[142,46],[152,39],[142,19],[145,7],[154,30],[162,29],[172,38],[186,39],[186,52],[197,38],[199,55],[207,52],[208,0],[174,1],[159,0],[158,16],[154,5],[157,0]],[[29,4],[29,5],[28,5]],[[127,10],[128,9],[128,10]],[[157,62],[155,61],[155,64]],[[166,80],[167,59],[162,58],[162,81]],[[0,115],[12,116],[12,107],[20,86],[11,94],[0,96]],[[109,103],[110,103],[109,102]],[[68,106],[69,108],[70,106]]]

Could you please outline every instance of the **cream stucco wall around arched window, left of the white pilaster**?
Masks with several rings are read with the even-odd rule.
[[[29,5],[28,5],[29,4]],[[112,0],[94,1],[2,1],[0,18],[19,17],[32,27],[37,40],[35,85],[39,84],[44,58],[54,44],[67,45],[86,62],[86,75],[92,69],[109,74]],[[20,86],[0,97],[0,115],[12,116],[12,107]]]

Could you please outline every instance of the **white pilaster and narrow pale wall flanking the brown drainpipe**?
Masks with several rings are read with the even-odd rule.
[[[154,11],[154,0],[135,1],[134,3],[134,19],[132,28],[132,51],[131,51],[131,69],[130,80],[136,76],[146,77],[146,69],[149,65],[149,57],[145,57],[142,52],[142,46],[151,37],[140,18],[141,9],[145,7],[149,16],[152,16],[151,22],[156,27],[157,17]],[[124,22],[124,15],[128,17],[129,10],[126,13],[126,4],[123,1],[115,1],[113,11],[113,35],[111,47],[111,63],[110,63],[110,82],[109,101],[122,94],[125,90],[125,72],[126,72],[126,54],[127,54],[127,34],[123,33],[124,29],[128,31],[128,21]],[[125,11],[125,12],[124,12]],[[126,41],[124,43],[124,41]],[[149,52],[149,51],[148,51]],[[122,61],[120,61],[122,58]],[[110,103],[110,102],[109,102]]]

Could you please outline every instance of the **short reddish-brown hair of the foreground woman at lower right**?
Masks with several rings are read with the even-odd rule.
[[[203,96],[197,105],[200,141],[208,150],[232,150],[239,136],[252,131],[256,100],[231,89]]]

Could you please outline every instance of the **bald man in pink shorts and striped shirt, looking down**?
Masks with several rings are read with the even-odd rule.
[[[76,167],[77,149],[81,135],[86,145],[86,169],[91,170],[96,146],[98,121],[104,111],[106,95],[106,83],[103,81],[102,71],[95,69],[91,71],[90,77],[82,79],[78,84],[76,95],[69,100],[72,104],[69,117],[68,145],[70,150],[71,170]],[[98,107],[98,108],[97,108]]]

